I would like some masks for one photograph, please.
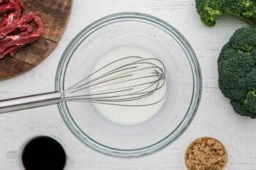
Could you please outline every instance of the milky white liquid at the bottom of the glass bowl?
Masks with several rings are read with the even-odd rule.
[[[97,62],[96,66],[94,66],[93,72],[95,72],[96,70],[98,70],[102,66],[105,66],[108,63],[111,63],[120,58],[124,58],[128,56],[140,56],[143,59],[156,58],[153,54],[149,53],[147,50],[144,50],[139,47],[118,47],[114,50],[110,50],[110,52],[103,55],[102,58]],[[106,88],[116,88],[116,87],[115,85],[112,85],[111,87],[106,87]],[[166,91],[167,91],[167,83],[165,83],[165,85],[160,90],[157,90],[157,93],[154,93],[151,97],[143,98],[144,100],[143,104],[153,103],[155,101],[155,98],[159,98],[160,96],[165,96]],[[140,104],[138,103],[140,101],[131,101],[131,102],[135,102],[135,104]],[[114,105],[108,105],[108,104],[94,104],[94,107],[98,110],[98,112],[102,116],[112,121],[113,123],[118,123],[121,125],[135,125],[138,123],[143,123],[146,120],[149,120],[154,115],[156,115],[157,112],[159,112],[159,109],[161,109],[164,102],[165,102],[165,98],[159,103],[153,104],[150,106],[127,107],[127,106],[114,106]]]

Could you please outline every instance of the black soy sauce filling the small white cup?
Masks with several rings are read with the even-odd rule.
[[[22,154],[26,170],[63,170],[66,159],[61,144],[48,136],[31,139]]]

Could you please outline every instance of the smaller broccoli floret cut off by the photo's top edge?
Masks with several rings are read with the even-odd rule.
[[[255,0],[195,0],[202,23],[214,26],[221,15],[233,15],[256,28]]]

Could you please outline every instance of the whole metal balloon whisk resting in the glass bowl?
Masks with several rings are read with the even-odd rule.
[[[0,113],[58,104],[61,101],[148,106],[165,98],[166,84],[162,61],[129,56],[100,66],[66,90],[1,100]],[[164,92],[158,93],[161,90]]]

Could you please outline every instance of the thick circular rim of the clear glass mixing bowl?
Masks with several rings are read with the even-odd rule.
[[[94,139],[91,139],[90,136],[87,136],[85,133],[83,133],[83,131],[79,128],[79,126],[75,123],[75,120],[73,120],[72,116],[70,115],[66,102],[60,102],[58,107],[59,112],[61,113],[61,117],[69,130],[72,132],[72,134],[75,135],[77,139],[80,140],[80,142],[85,144],[87,147],[102,153],[103,155],[108,155],[115,158],[140,158],[158,152],[159,150],[167,147],[169,144],[175,142],[176,139],[178,139],[179,136],[181,136],[181,134],[183,134],[184,131],[186,131],[186,129],[189,127],[200,104],[200,98],[202,94],[202,75],[200,71],[200,65],[191,45],[189,45],[187,39],[185,39],[184,36],[182,36],[181,33],[176,30],[176,28],[173,28],[173,26],[170,26],[170,24],[164,20],[139,12],[119,12],[94,21],[94,23],[91,23],[89,26],[86,26],[86,28],[83,28],[83,30],[80,31],[80,33],[78,33],[71,42],[69,42],[69,45],[64,50],[56,72],[55,90],[64,90],[64,79],[67,66],[69,64],[70,58],[72,58],[72,54],[75,53],[75,50],[78,48],[80,43],[83,42],[94,31],[97,31],[99,28],[106,26],[106,24],[116,23],[124,20],[143,21],[159,26],[159,28],[162,28],[163,31],[166,31],[170,36],[173,37],[173,39],[176,40],[178,45],[181,46],[184,53],[186,54],[193,77],[193,90],[189,108],[187,109],[187,113],[183,120],[181,120],[181,123],[178,124],[176,129],[174,129],[171,134],[168,134],[159,142],[134,150],[121,150],[100,144],[99,142],[94,141]]]

